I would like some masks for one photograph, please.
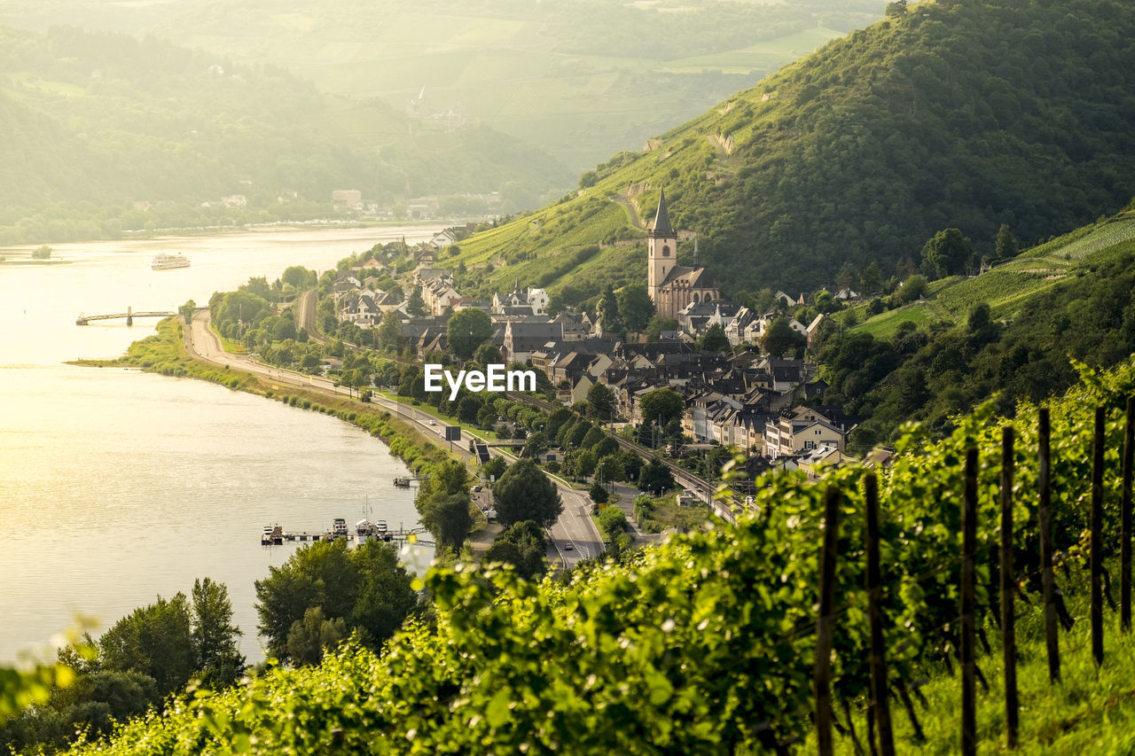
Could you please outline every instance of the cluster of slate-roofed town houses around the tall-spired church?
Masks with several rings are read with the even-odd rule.
[[[592,311],[552,312],[546,289],[519,280],[491,300],[469,296],[459,289],[455,271],[443,266],[464,230],[446,229],[415,249],[400,243],[376,247],[358,268],[337,271],[333,300],[338,324],[353,326],[346,330],[358,342],[376,345],[389,345],[380,331],[396,324],[400,352],[423,361],[454,352],[451,318],[479,311],[491,329],[484,343],[503,362],[539,371],[564,406],[587,402],[595,386],[606,388],[612,409],[603,419],[614,429],[657,425],[656,418],[645,417],[642,398],[673,392],[683,406],[678,427],[648,432],[653,440],[659,434],[669,439],[674,457],[705,459],[711,450],[731,447],[746,455],[750,481],[770,469],[814,472],[851,459],[848,438],[856,419],[824,404],[826,384],[808,359],[821,335],[834,328],[816,311],[817,297],[777,291],[760,311],[724,300],[706,268],[676,264],[679,232],[671,225],[664,193],[647,237],[647,308],[650,322],[662,326],[655,333],[613,334],[605,310],[611,304],[602,300]],[[406,297],[393,286],[382,288],[400,270],[411,289]],[[850,288],[817,294],[829,305],[858,297]],[[799,320],[798,313],[808,317]],[[331,370],[342,367],[340,361],[328,364]],[[872,461],[888,456],[886,450],[876,450]]]

